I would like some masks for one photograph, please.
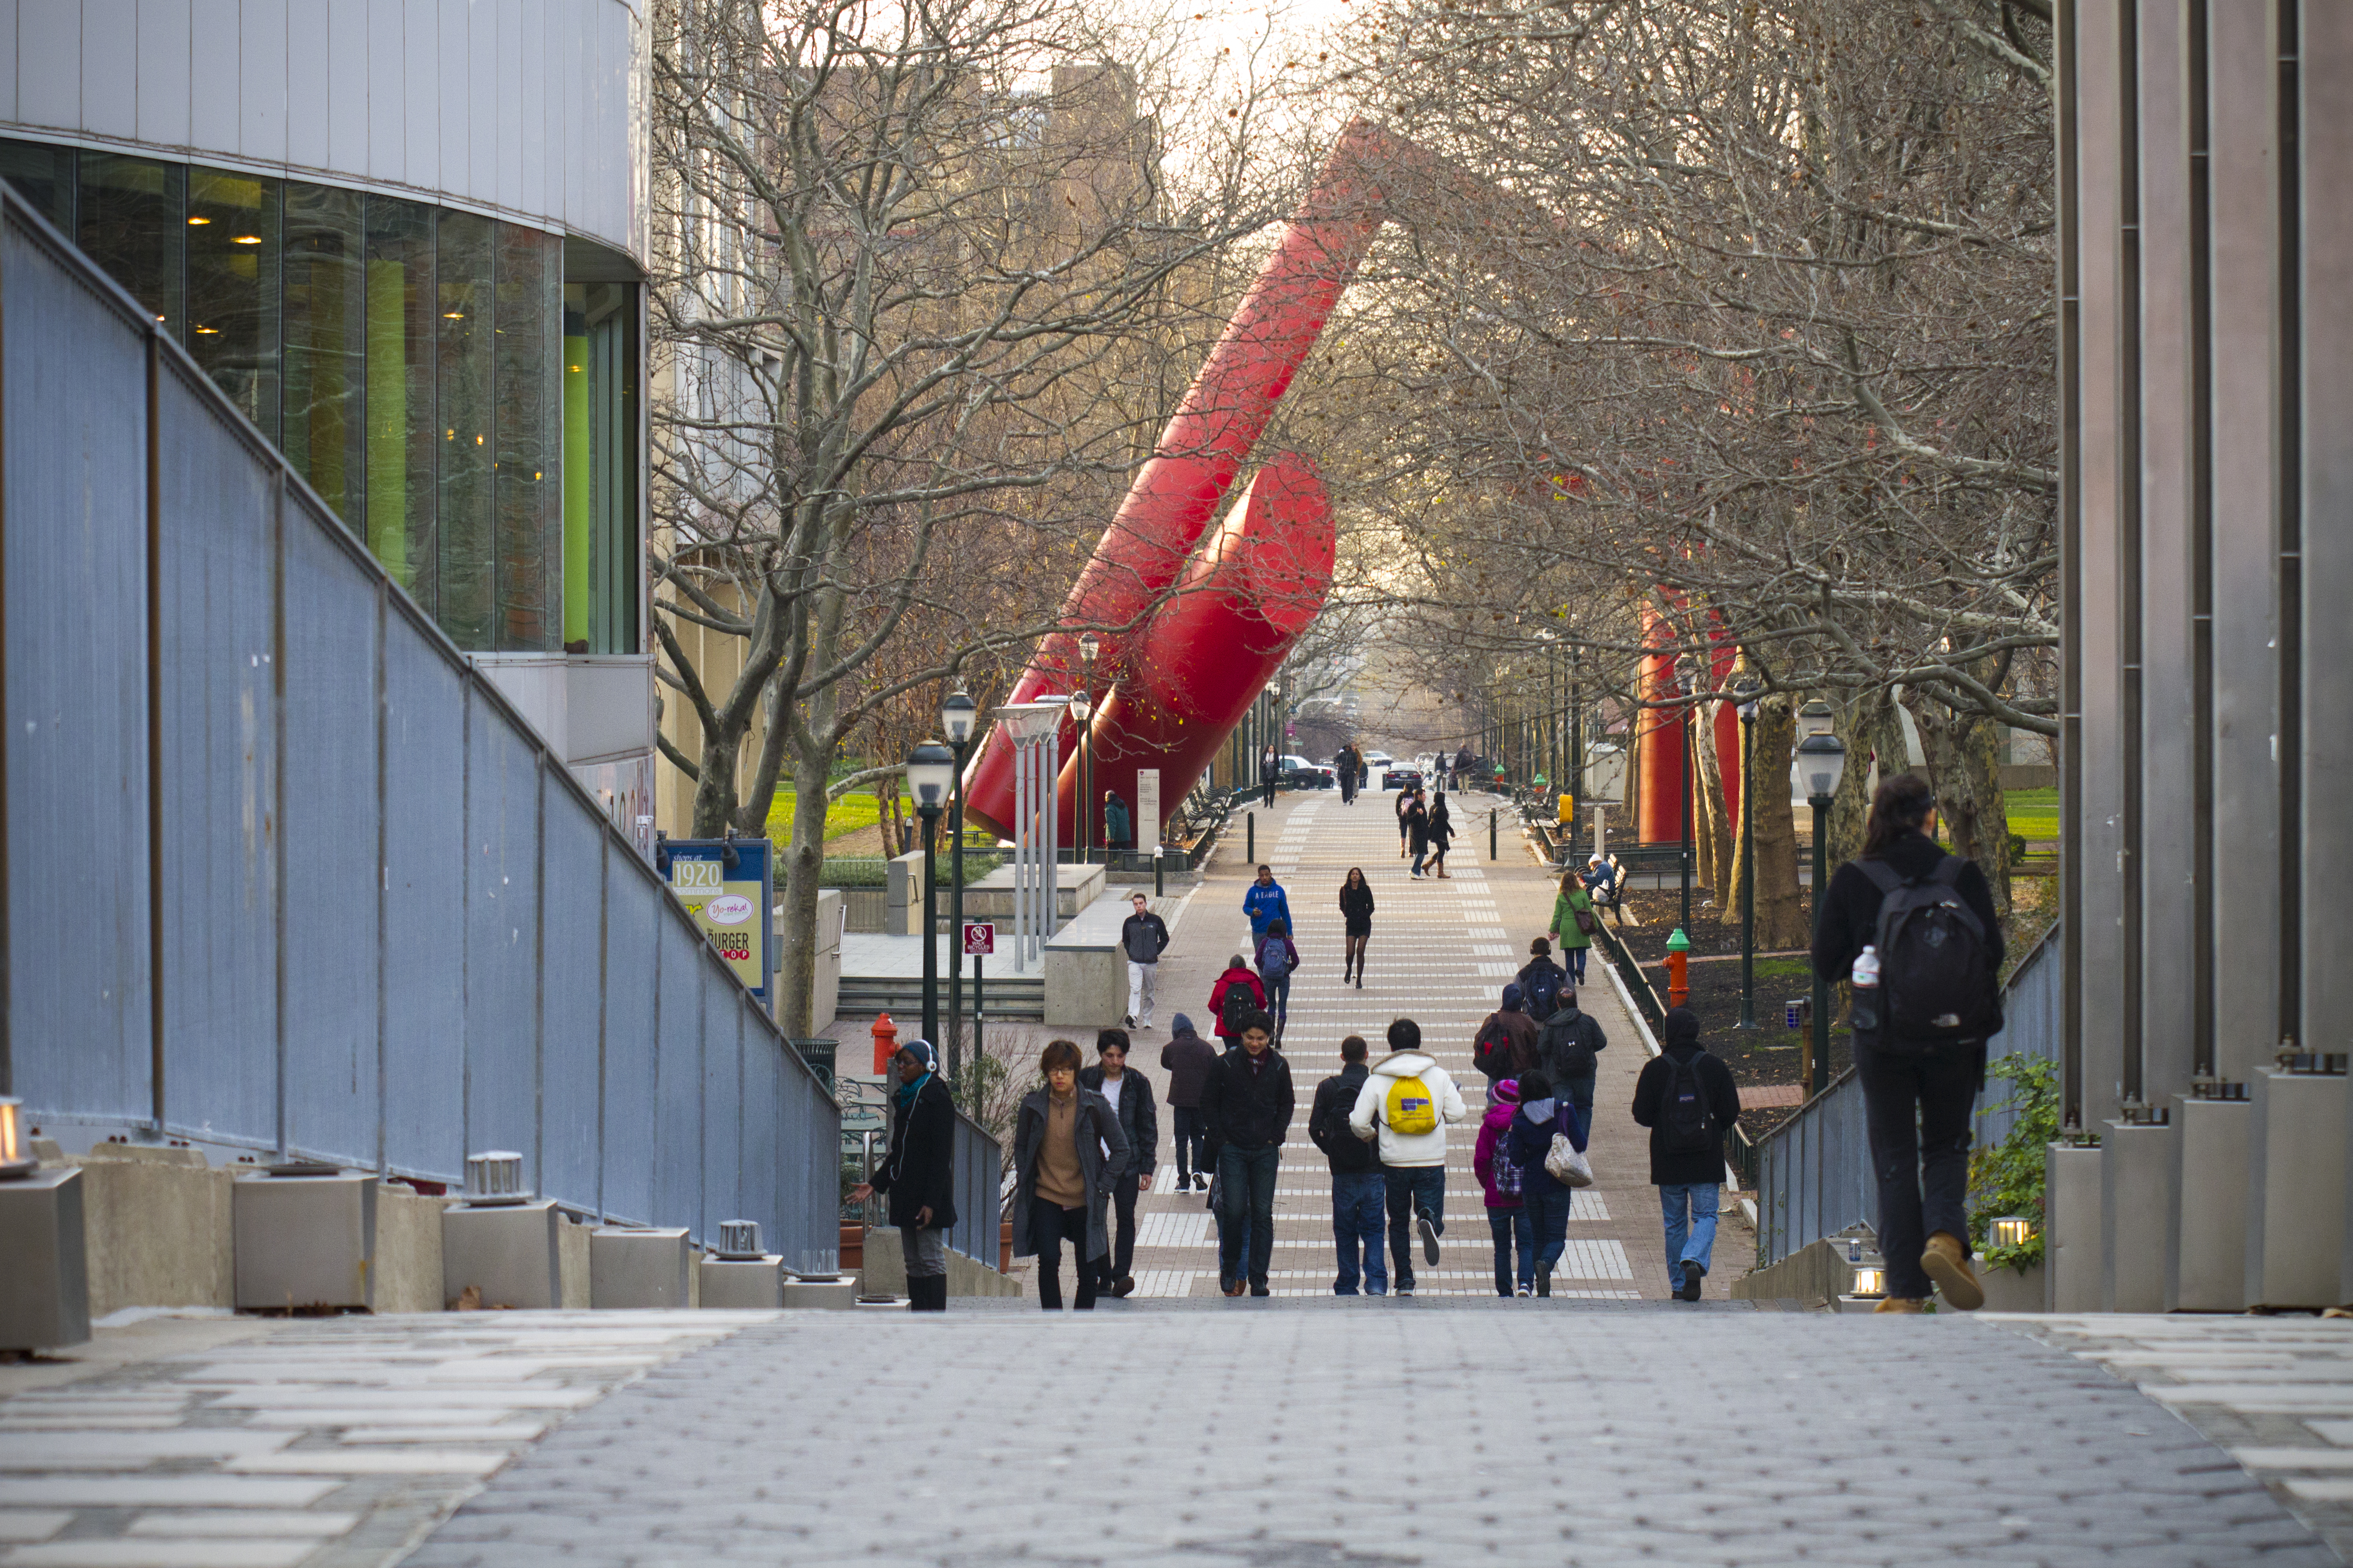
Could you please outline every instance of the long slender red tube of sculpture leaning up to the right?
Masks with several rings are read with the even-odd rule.
[[[1365,259],[1386,219],[1377,170],[1400,151],[1409,155],[1386,132],[1362,122],[1351,125],[1332,148],[1299,217],[1249,285],[1209,351],[1209,363],[1193,377],[1153,457],[1136,473],[1094,558],[1064,600],[1066,631],[1038,645],[1007,702],[1075,690],[1082,678],[1075,636],[1085,626],[1101,629],[1108,655],[1092,671],[1096,690],[1139,669],[1134,655],[1144,617],[1176,582],[1219,501],[1249,461],[1275,400],[1299,374],[1332,306]],[[1169,657],[1184,659],[1188,652],[1169,650]],[[1245,692],[1242,706],[1254,695],[1257,687]],[[1073,739],[1066,725],[1064,756]],[[1188,784],[1191,779],[1165,779],[1169,808]],[[1012,822],[1012,749],[995,730],[965,772],[965,812],[1000,833]]]

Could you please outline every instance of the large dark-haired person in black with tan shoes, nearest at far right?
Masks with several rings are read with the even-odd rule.
[[[1857,961],[1875,958],[1878,984],[1854,989],[1854,1076],[1880,1189],[1880,1311],[1920,1311],[1932,1285],[1962,1311],[1986,1302],[1965,1203],[1969,1114],[2002,1026],[2002,925],[1977,862],[1929,838],[1934,815],[1927,779],[1882,782],[1864,852],[1831,876],[1814,918],[1814,972],[1831,984],[1864,979]]]

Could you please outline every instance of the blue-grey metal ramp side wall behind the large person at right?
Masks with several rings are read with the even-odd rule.
[[[2021,1052],[2059,1059],[2061,932],[2052,928],[2002,989],[2002,1031],[1991,1057]],[[1977,1147],[2005,1137],[2017,1114],[2002,1078],[1988,1078],[1977,1102]],[[1840,1074],[1805,1109],[1758,1144],[1758,1264],[1835,1236],[1849,1224],[1878,1224],[1878,1184],[1864,1130],[1864,1090]]]

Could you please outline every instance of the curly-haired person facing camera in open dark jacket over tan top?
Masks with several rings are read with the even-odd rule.
[[[1038,1260],[1038,1304],[1061,1311],[1061,1243],[1078,1276],[1075,1311],[1094,1309],[1096,1257],[1111,1250],[1104,1198],[1127,1170],[1127,1132],[1094,1090],[1078,1081],[1075,1041],[1038,1052],[1045,1088],[1021,1099],[1014,1121],[1014,1257]]]

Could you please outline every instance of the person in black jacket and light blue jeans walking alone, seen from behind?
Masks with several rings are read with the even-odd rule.
[[[1633,1118],[1649,1128],[1649,1180],[1666,1217],[1668,1288],[1697,1302],[1715,1250],[1725,1132],[1741,1116],[1741,1090],[1732,1069],[1699,1043],[1697,1012],[1671,1008],[1661,1034],[1664,1050],[1633,1081]],[[1880,1245],[1885,1255],[1887,1243]]]

